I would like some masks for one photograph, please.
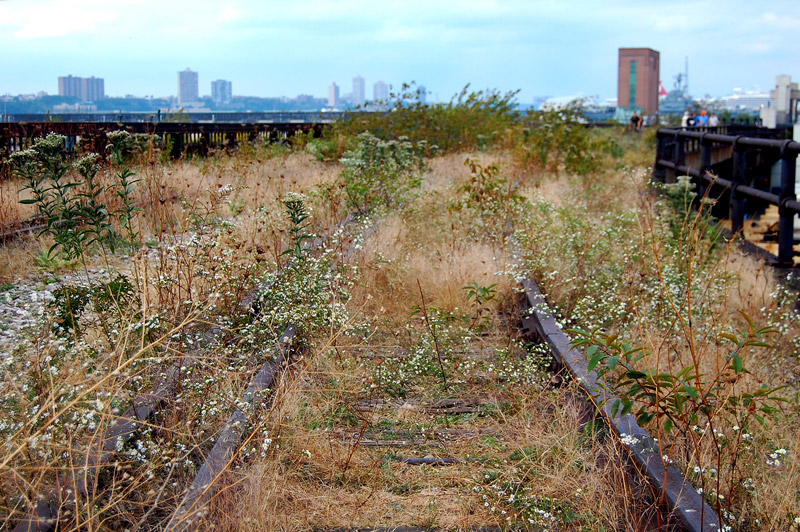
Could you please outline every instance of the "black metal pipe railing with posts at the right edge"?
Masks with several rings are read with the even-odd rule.
[[[736,234],[744,227],[745,200],[757,199],[776,205],[780,215],[778,225],[778,262],[793,263],[794,217],[800,213],[800,202],[795,196],[797,155],[800,142],[769,138],[755,138],[743,135],[721,135],[709,131],[685,129],[659,129],[656,133],[656,161],[654,178],[664,181],[666,170],[676,175],[695,178],[698,195],[703,197],[709,185],[719,185],[731,192],[729,218],[731,231]],[[700,164],[697,168],[687,166],[687,148],[697,145],[700,151]],[[733,147],[733,170],[730,175],[714,175],[711,168],[711,153],[715,146]],[[777,155],[781,161],[780,193],[773,194],[750,186],[753,181],[752,166],[748,164],[748,151],[763,151]]]

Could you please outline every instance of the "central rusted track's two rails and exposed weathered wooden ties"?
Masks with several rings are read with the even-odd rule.
[[[530,339],[542,342],[547,345],[554,357],[557,369],[568,374],[570,378],[579,383],[579,387],[586,395],[586,407],[581,407],[576,403],[576,408],[586,408],[583,414],[584,422],[589,423],[595,416],[601,416],[606,425],[615,435],[615,441],[611,444],[624,447],[623,453],[633,465],[633,475],[646,478],[651,485],[653,499],[660,508],[663,521],[672,523],[670,526],[678,526],[687,531],[717,531],[720,530],[720,523],[716,513],[703,501],[695,489],[685,480],[683,475],[673,466],[665,465],[658,445],[654,440],[636,423],[630,415],[620,417],[613,415],[610,405],[613,397],[600,394],[598,389],[602,389],[600,381],[593,372],[586,371],[586,360],[583,354],[570,348],[569,338],[557,326],[552,315],[544,307],[544,299],[538,292],[538,288],[531,281],[524,282],[526,290],[523,299],[522,327],[523,333]],[[364,349],[354,354],[355,358],[366,360],[374,359],[376,353],[364,352]],[[464,355],[466,359],[486,360],[486,348],[467,349]],[[408,353],[402,350],[389,349],[382,354],[382,357],[408,357]],[[268,370],[273,371],[273,370]],[[252,389],[252,387],[251,387]],[[250,390],[248,390],[250,393]],[[429,431],[390,431],[391,434],[385,435],[381,430],[374,427],[381,422],[383,415],[392,416],[397,412],[407,411],[414,415],[428,416],[431,420],[443,416],[468,415],[479,419],[483,416],[493,416],[499,413],[498,405],[502,403],[501,396],[485,397],[449,397],[440,400],[425,400],[418,398],[398,399],[396,401],[386,401],[382,399],[364,399],[357,401],[353,406],[357,411],[371,413],[373,421],[366,430],[362,426],[361,430],[355,432],[339,431],[331,434],[331,441],[336,442],[343,448],[372,448],[396,449],[385,457],[380,458],[379,462],[386,464],[392,462],[399,467],[467,467],[469,464],[481,465],[486,462],[486,457],[459,455],[451,447],[458,447],[459,443],[474,441],[480,438],[490,438],[493,441],[506,442],[511,444],[508,438],[504,438],[502,430],[486,429],[432,429]],[[602,406],[598,406],[602,404]],[[231,420],[238,419],[234,414]],[[375,417],[377,416],[377,417]],[[235,424],[236,421],[233,421]],[[231,422],[229,422],[231,425]],[[636,444],[623,444],[619,440],[632,441]],[[236,444],[221,436],[220,441],[227,442],[225,450],[216,454],[212,451],[203,469],[196,477],[189,489],[180,508],[172,515],[166,530],[197,530],[204,529],[201,525],[203,516],[203,505],[206,504],[215,489],[212,487],[221,472],[230,466]],[[398,454],[400,453],[400,454]],[[643,526],[640,524],[640,526]],[[646,525],[645,525],[646,526]],[[315,530],[351,530],[351,531],[416,531],[416,530],[449,530],[450,528],[420,528],[413,526],[394,526],[394,527],[354,527],[354,528],[315,528]],[[501,530],[497,525],[459,527],[460,530]]]

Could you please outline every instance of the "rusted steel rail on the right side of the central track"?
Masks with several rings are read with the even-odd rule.
[[[588,371],[586,356],[571,347],[569,337],[547,309],[547,302],[536,283],[526,280],[522,284],[525,290],[523,305],[527,308],[523,314],[523,326],[532,338],[550,347],[556,363],[586,393],[587,399],[597,407],[616,436],[621,439],[625,435],[625,441],[636,442],[625,445],[625,449],[636,469],[653,487],[657,502],[663,502],[667,513],[676,515],[688,532],[721,530],[717,513],[680,471],[672,465],[665,465],[658,443],[632,415],[620,416],[612,411],[615,397],[606,392],[606,386],[596,372]]]

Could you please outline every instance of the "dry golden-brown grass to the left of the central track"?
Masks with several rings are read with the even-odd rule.
[[[186,367],[179,373],[178,402],[152,426],[144,425],[126,444],[116,467],[91,486],[89,498],[72,505],[73,520],[62,524],[64,529],[130,526],[145,515],[152,519],[150,505],[176,504],[176,493],[191,477],[186,461],[202,460],[198,453],[227,418],[233,398],[246,387],[251,364],[259,362],[253,355],[240,359],[235,339],[223,327],[223,336],[233,342],[230,347],[204,345],[201,358],[192,364],[195,359],[188,353],[197,353],[192,330],[207,327],[201,323],[206,320],[221,320],[224,325],[237,319],[242,312],[238,301],[257,275],[275,266],[285,247],[281,197],[289,190],[307,192],[334,175],[304,154],[261,162],[219,158],[213,166],[207,161],[184,161],[134,170],[141,179],[134,200],[142,207],[135,227],[149,250],[144,247],[134,256],[93,256],[88,269],[71,272],[76,265],[34,260],[52,244],[47,238],[22,239],[2,248],[8,258],[0,270],[3,283],[16,284],[28,276],[28,282],[41,287],[41,267],[67,285],[97,282],[95,269],[109,267],[138,281],[130,308],[122,307],[119,315],[103,309],[103,320],[110,322],[99,320],[100,312],[86,313],[75,345],[53,334],[49,318],[20,331],[25,341],[13,346],[13,358],[4,354],[4,397],[13,403],[12,408],[6,403],[2,418],[0,520],[6,526],[33,506],[36,494],[45,493],[58,475],[65,474],[65,464],[74,464],[80,472],[84,453],[97,445],[101,430],[120,409],[147,389],[159,372],[182,361]],[[113,173],[106,169],[100,178],[109,184]],[[226,184],[234,189],[223,197],[219,189]],[[10,190],[18,183],[4,185]],[[115,204],[113,198],[106,199]],[[3,212],[20,214],[11,207],[16,201],[16,196],[4,196]],[[37,312],[27,303],[18,305]],[[207,391],[209,386],[214,393]],[[51,411],[58,416],[56,422],[47,421]],[[29,418],[32,412],[39,412],[38,417]]]

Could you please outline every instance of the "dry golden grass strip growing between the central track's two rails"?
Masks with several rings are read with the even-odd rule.
[[[464,158],[435,160],[425,195],[377,222],[355,257],[361,277],[350,302],[357,319],[372,325],[370,335],[357,345],[340,339],[335,349],[317,351],[302,364],[270,416],[280,446],[231,473],[228,482],[235,486],[215,499],[206,527],[465,530],[506,525],[506,518],[527,525],[508,503],[511,492],[497,495],[493,483],[522,483],[541,500],[562,501],[581,526],[633,530],[652,518],[646,496],[620,468],[614,444],[584,427],[573,391],[542,388],[544,374],[526,384],[492,368],[498,349],[519,360],[513,317],[505,314],[514,288],[507,275],[497,275],[510,260],[502,243],[470,236],[470,222],[453,223],[448,212],[469,176]],[[426,378],[407,397],[387,395],[375,372],[398,353],[401,361],[408,358],[426,334],[412,308],[424,297],[429,311],[469,313],[463,287],[472,281],[496,283],[502,296],[489,303],[487,337],[455,351],[451,346],[446,372],[457,384],[446,390]],[[473,399],[480,407],[448,414],[423,406],[446,397]],[[377,407],[367,406],[376,401]],[[402,443],[410,440],[417,442]],[[412,466],[394,456],[456,457],[458,463]],[[532,496],[519,489],[515,496]]]

